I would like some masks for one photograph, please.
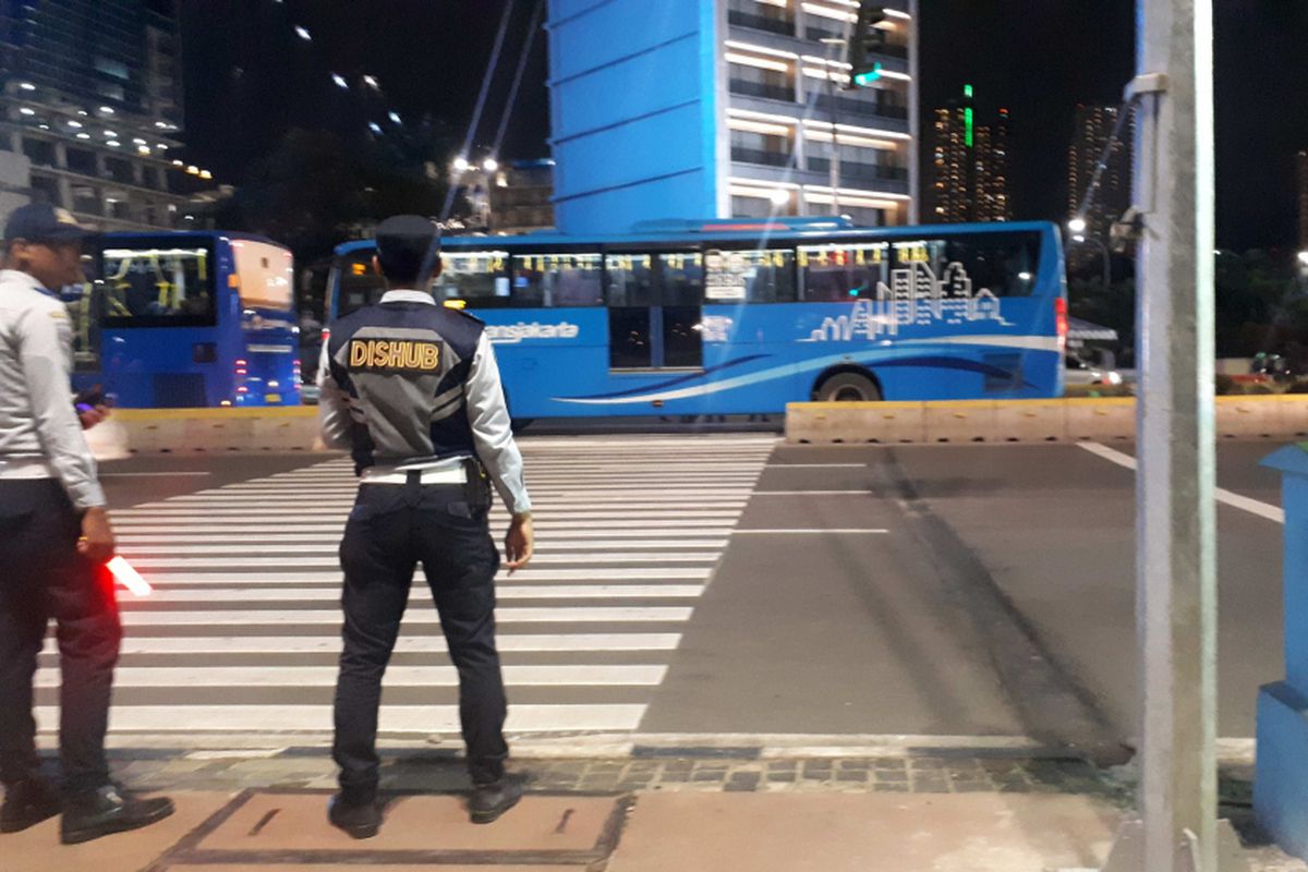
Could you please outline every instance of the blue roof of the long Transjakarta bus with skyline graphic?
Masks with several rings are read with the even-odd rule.
[[[649,246],[654,243],[696,243],[705,239],[713,242],[803,242],[814,237],[823,239],[862,239],[869,235],[879,238],[914,238],[923,235],[959,235],[993,233],[1053,233],[1056,226],[1048,221],[1005,221],[991,224],[943,224],[914,225],[897,227],[854,227],[848,218],[783,218],[776,221],[749,218],[710,220],[710,221],[649,221],[641,222],[625,233],[577,237],[557,230],[540,230],[511,237],[467,235],[446,237],[442,246],[447,250],[504,247],[539,248],[545,246],[585,247],[585,246]],[[337,256],[368,251],[375,246],[373,239],[353,239],[336,246]]]

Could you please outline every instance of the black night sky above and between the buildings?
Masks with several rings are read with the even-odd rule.
[[[655,1],[655,0],[651,0]],[[483,120],[489,144],[532,12],[514,0],[501,77]],[[1011,112],[1019,218],[1061,220],[1078,102],[1116,103],[1134,71],[1131,0],[922,0],[923,109],[965,82],[984,120]],[[1218,1],[1218,237],[1288,246],[1294,153],[1308,148],[1308,3]],[[362,118],[430,118],[462,139],[498,0],[204,0],[182,4],[187,141],[195,162],[239,184],[289,127],[357,132]],[[305,43],[294,25],[309,29]],[[539,34],[504,156],[548,154],[545,38]],[[356,82],[334,86],[337,72]],[[357,77],[375,76],[385,97]]]

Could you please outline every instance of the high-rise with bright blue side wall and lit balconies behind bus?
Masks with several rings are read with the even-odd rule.
[[[857,0],[549,0],[560,229],[914,221],[917,0],[878,5],[879,76],[846,90]]]

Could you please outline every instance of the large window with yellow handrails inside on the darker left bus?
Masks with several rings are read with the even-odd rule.
[[[98,269],[105,326],[213,324],[213,268],[208,246],[106,247]]]

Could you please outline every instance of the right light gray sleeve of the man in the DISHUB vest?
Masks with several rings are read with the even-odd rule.
[[[513,441],[509,422],[509,405],[504,400],[504,387],[500,384],[500,365],[494,360],[494,348],[485,333],[477,343],[472,357],[472,371],[463,388],[468,403],[468,422],[472,425],[472,441],[477,458],[490,475],[494,489],[504,499],[509,511],[518,514],[531,511],[531,497],[523,481],[522,454]]]

